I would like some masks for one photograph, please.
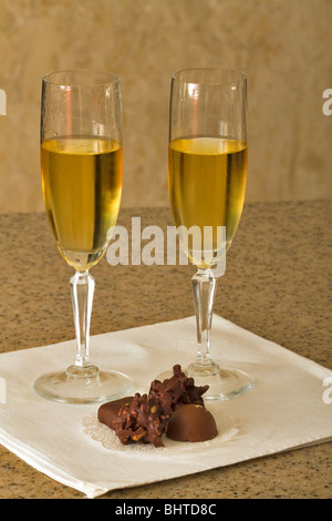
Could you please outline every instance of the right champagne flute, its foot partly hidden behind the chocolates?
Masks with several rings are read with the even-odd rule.
[[[220,368],[211,359],[210,348],[217,279],[224,273],[226,252],[240,221],[246,175],[246,75],[219,69],[174,73],[169,108],[169,198],[176,227],[180,229],[181,247],[198,268],[191,279],[197,354],[186,372],[195,382],[209,385],[205,398],[210,400],[236,398],[252,388],[247,374]]]

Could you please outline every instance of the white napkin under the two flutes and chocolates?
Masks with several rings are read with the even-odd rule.
[[[195,335],[194,317],[97,335],[91,339],[92,359],[131,375],[134,390],[147,392],[159,372],[193,360]],[[219,436],[204,443],[123,447],[97,425],[98,405],[37,396],[37,377],[65,368],[74,355],[73,340],[0,355],[0,443],[89,498],[332,439],[332,405],[323,399],[332,371],[216,315],[214,358],[249,372],[255,389],[208,403]]]

